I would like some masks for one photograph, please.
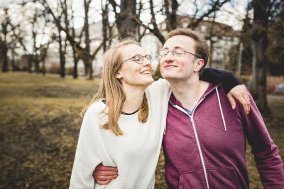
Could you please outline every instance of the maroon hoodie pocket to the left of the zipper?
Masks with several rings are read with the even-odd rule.
[[[190,189],[190,188],[194,189],[206,188],[206,182],[203,170],[180,173],[178,189]]]

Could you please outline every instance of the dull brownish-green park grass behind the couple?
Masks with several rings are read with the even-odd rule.
[[[0,188],[68,188],[80,110],[99,81],[60,79],[58,75],[0,73]],[[270,101],[268,131],[284,159],[284,99]],[[247,148],[251,188],[262,188]],[[163,156],[156,187],[165,188]]]

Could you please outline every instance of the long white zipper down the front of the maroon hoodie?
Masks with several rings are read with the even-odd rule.
[[[197,103],[195,109],[204,100],[204,98],[205,97],[203,97],[200,100],[200,102]],[[170,104],[172,104],[172,103],[170,102]],[[195,121],[193,120],[193,114],[195,113],[195,109],[192,112],[192,116],[190,116],[185,111],[185,109],[183,109],[182,107],[179,107],[178,105],[175,105],[175,104],[172,104],[172,105],[173,105],[173,107],[175,107],[176,109],[179,109],[181,112],[184,112],[185,114],[187,114],[188,117],[190,117],[190,122],[192,123],[192,128],[193,128],[193,131],[194,131],[194,134],[195,134],[195,141],[197,143],[197,148],[198,148],[198,151],[200,153],[200,160],[201,160],[201,163],[202,163],[202,168],[203,168],[203,172],[204,172],[205,182],[206,182],[206,185],[207,185],[207,189],[209,189],[209,181],[208,181],[208,176],[207,176],[207,170],[206,170],[206,167],[205,167],[205,161],[204,161],[203,153],[201,151],[200,140],[198,139],[198,136],[197,136],[197,131],[196,131],[196,127],[195,127]]]

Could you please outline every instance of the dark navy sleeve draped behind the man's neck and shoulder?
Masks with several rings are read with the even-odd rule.
[[[212,82],[214,84],[222,83],[226,94],[228,94],[232,88],[236,87],[236,85],[241,85],[241,82],[236,79],[231,72],[214,68],[205,68],[202,75],[200,75],[200,80]]]

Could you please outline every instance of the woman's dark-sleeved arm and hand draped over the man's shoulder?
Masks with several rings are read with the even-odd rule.
[[[231,107],[236,108],[236,98],[241,105],[244,107],[244,112],[249,114],[250,109],[250,99],[249,92],[242,83],[234,77],[231,72],[226,72],[224,70],[217,70],[213,68],[205,68],[202,75],[200,75],[200,80],[204,80],[212,83],[222,83],[224,90],[229,98]]]

